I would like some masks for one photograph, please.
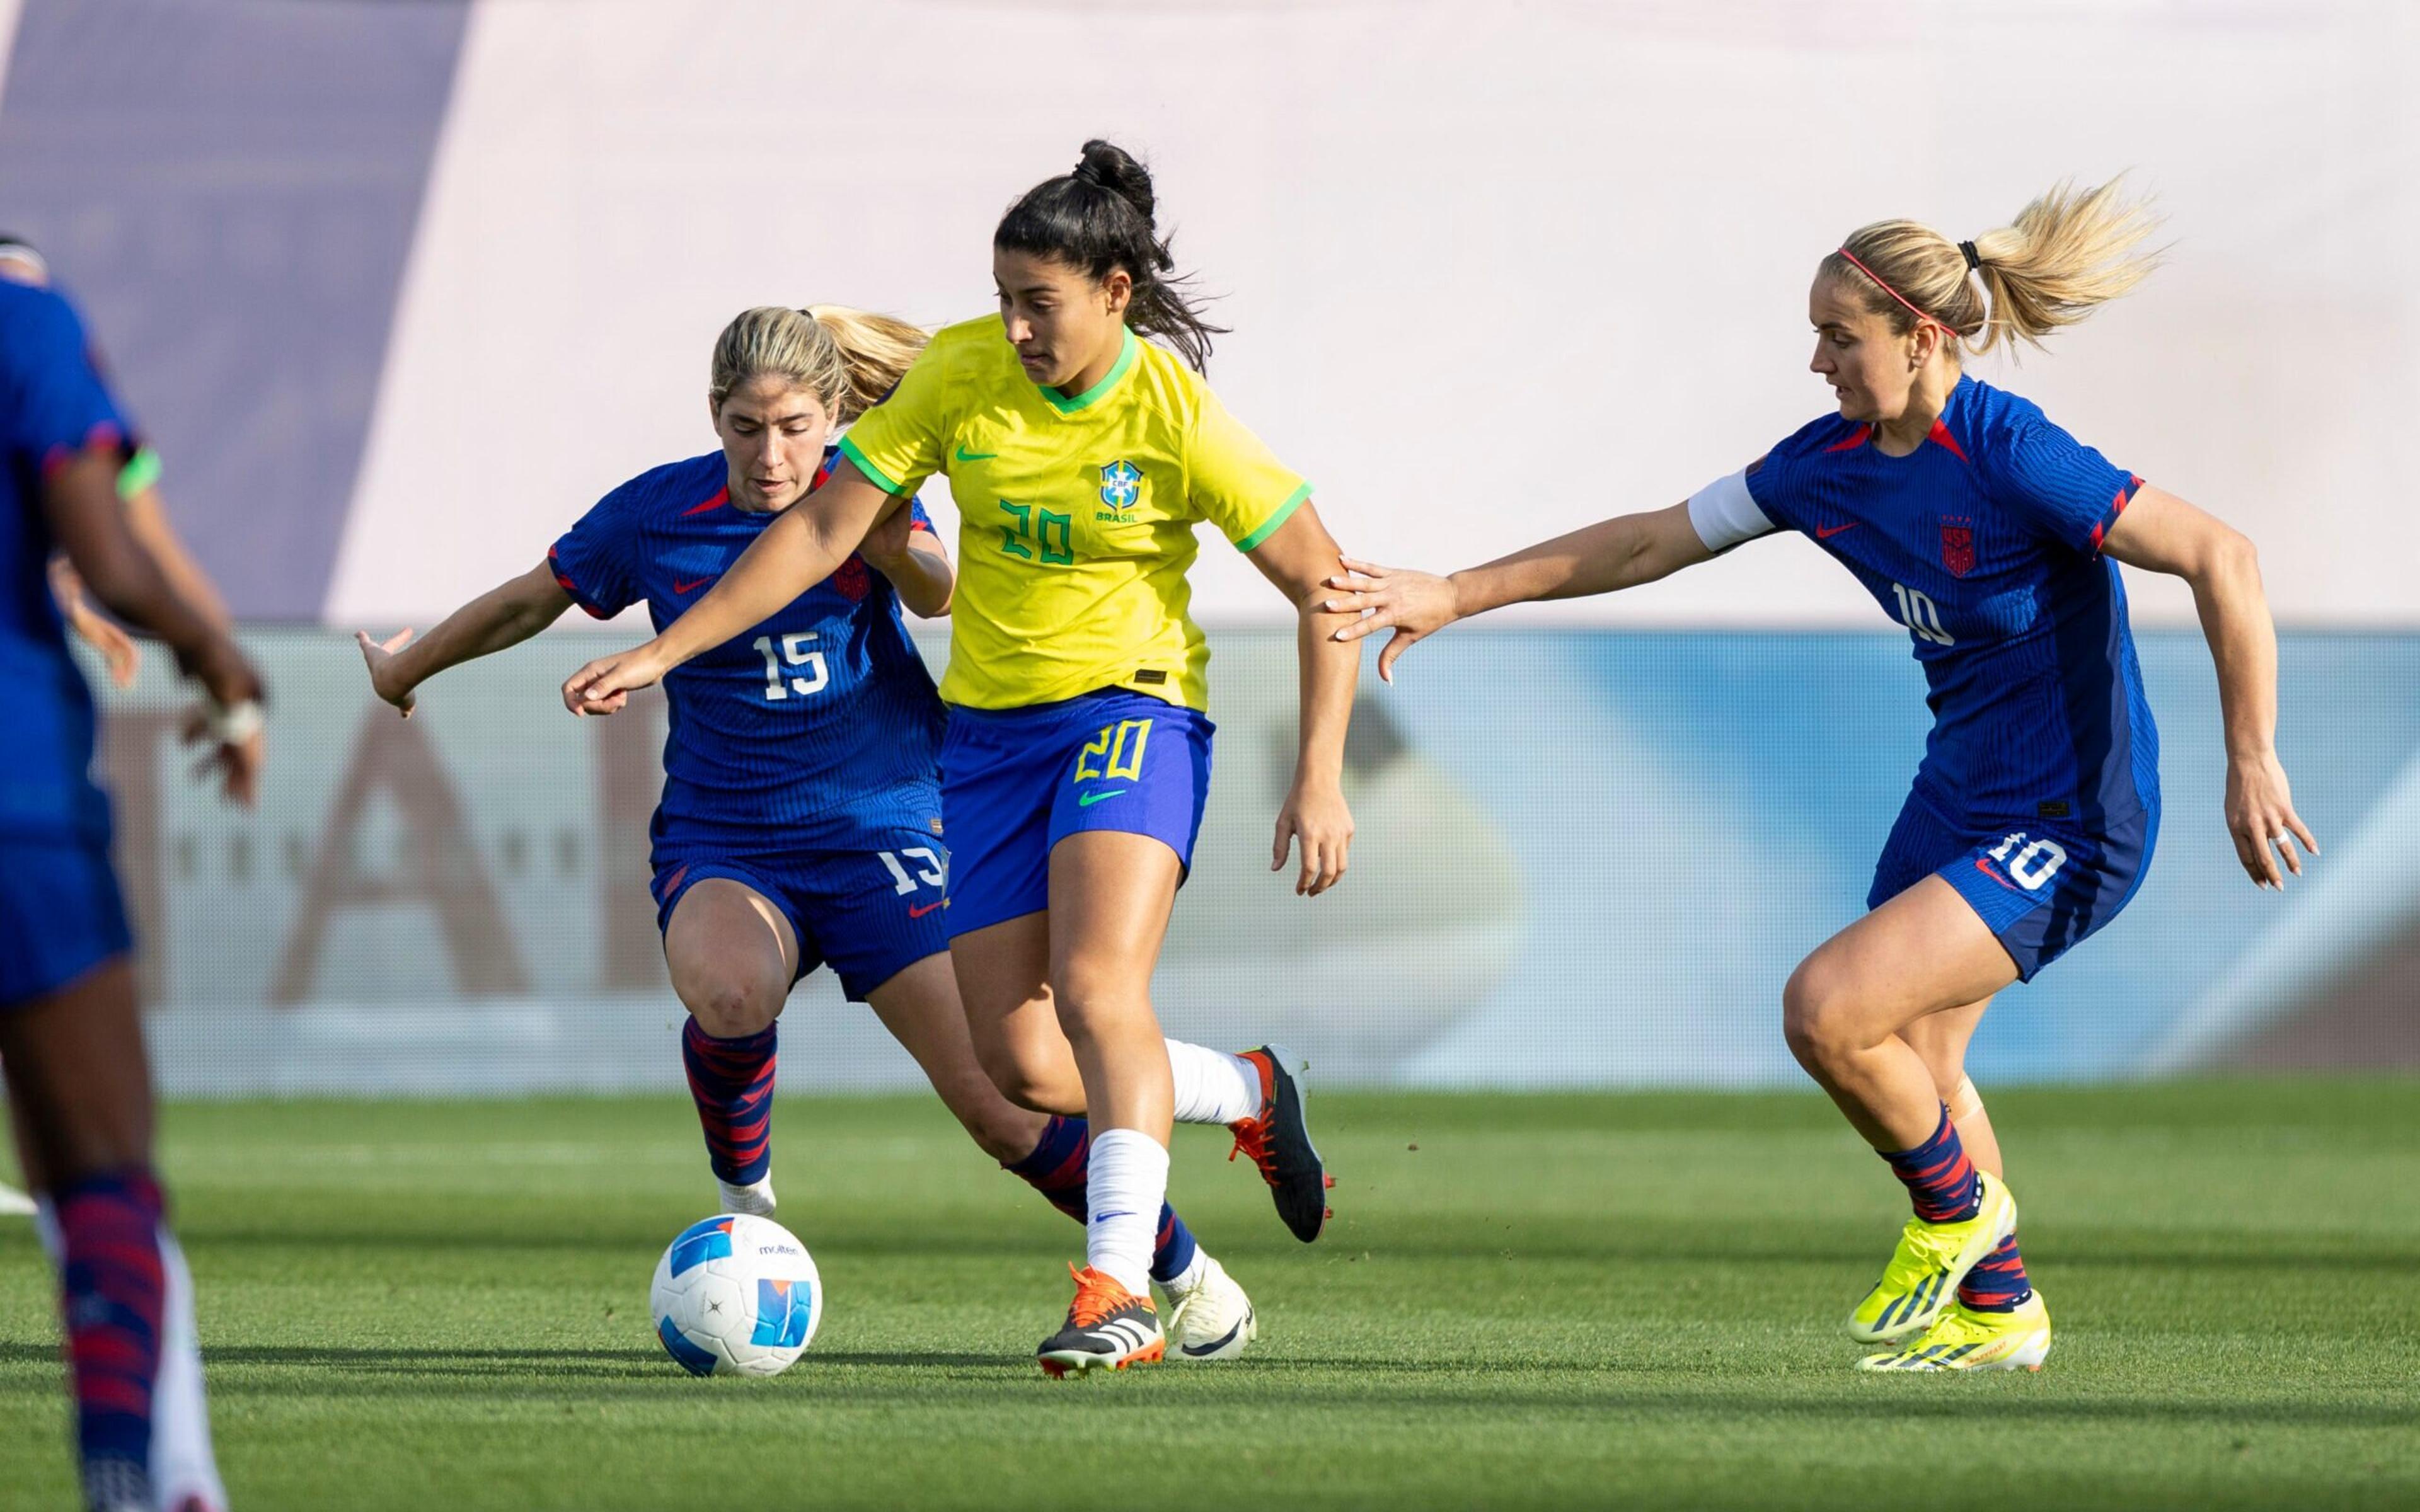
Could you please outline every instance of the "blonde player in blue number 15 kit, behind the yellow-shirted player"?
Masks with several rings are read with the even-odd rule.
[[[748,310],[714,346],[721,450],[622,484],[547,561],[426,636],[358,636],[378,697],[409,716],[421,682],[535,636],[571,605],[610,619],[644,600],[661,631],[808,494],[830,469],[832,431],[922,348],[924,331],[857,310]],[[774,1018],[828,963],[975,1144],[1084,1222],[1087,1123],[1016,1108],[992,1086],[951,975],[941,699],[900,605],[946,614],[953,588],[949,554],[910,506],[762,624],[666,677],[656,922],[690,1009],[680,1052],[724,1212],[774,1210]],[[1251,1343],[1244,1289],[1166,1205],[1152,1280],[1176,1306],[1179,1355],[1220,1360]]]

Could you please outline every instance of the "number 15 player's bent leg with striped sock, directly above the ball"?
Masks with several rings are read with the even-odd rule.
[[[690,1009],[680,1062],[724,1212],[770,1214],[774,1018],[799,975],[799,936],[755,888],[714,876],[682,893],[663,958]]]

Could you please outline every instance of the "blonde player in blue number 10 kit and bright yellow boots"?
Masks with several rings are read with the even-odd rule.
[[[2226,827],[2243,871],[2301,871],[2277,762],[2277,636],[2253,547],[1960,370],[2040,344],[2130,290],[2149,232],[2115,186],[2057,189],[1951,242],[1885,220],[1822,259],[1808,295],[1830,414],[1687,503],[1624,515],[1452,578],[1348,561],[1333,600],[1421,636],[1510,602],[1653,583],[1798,530],[1907,627],[1934,733],[1876,866],[1871,910],[1784,989],[1798,1062],[1914,1200],[1849,1333],[1863,1369],[2035,1369],[2050,1314],[2016,1248],[1999,1139],[1965,1074],[1992,994],[2033,980],[2134,898],[2159,835],[2159,733],[2118,566],[2193,583],[2226,721]]]

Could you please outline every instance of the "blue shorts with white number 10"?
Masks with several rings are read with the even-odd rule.
[[[1907,796],[1873,864],[1866,907],[1938,876],[1982,917],[2030,982],[2084,936],[2118,917],[2151,871],[2159,803],[2086,830],[2064,820],[2016,820],[1992,830],[1953,825],[1919,793]]]

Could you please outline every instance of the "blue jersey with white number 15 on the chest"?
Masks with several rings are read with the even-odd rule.
[[[600,619],[646,600],[661,634],[777,518],[736,508],[726,467],[709,452],[607,494],[547,554],[557,583]],[[898,593],[859,556],[675,668],[663,692],[658,849],[857,849],[871,830],[932,830],[941,813],[941,699]]]

